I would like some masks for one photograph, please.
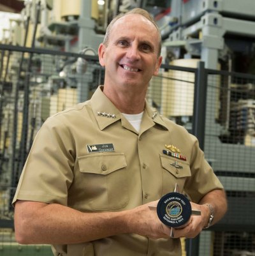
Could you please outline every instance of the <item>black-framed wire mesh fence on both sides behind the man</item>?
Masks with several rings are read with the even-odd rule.
[[[105,71],[97,56],[68,52],[2,45],[0,57],[0,250],[4,255],[52,255],[50,246],[15,243],[11,200],[43,122],[91,98],[103,84]],[[255,77],[198,72],[198,63],[191,59],[163,64],[150,81],[147,100],[189,132],[194,126],[205,127],[205,156],[226,189],[228,213],[201,232],[199,255],[254,255]],[[183,255],[186,251],[184,245]]]

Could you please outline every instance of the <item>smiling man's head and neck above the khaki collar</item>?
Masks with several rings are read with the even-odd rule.
[[[149,81],[162,61],[159,45],[156,24],[137,13],[115,20],[106,32],[98,51],[105,66],[104,93],[122,112],[143,111]]]

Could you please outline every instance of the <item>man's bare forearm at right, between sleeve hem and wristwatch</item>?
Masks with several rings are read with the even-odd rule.
[[[207,193],[199,202],[199,204],[210,204],[214,209],[214,220],[212,224],[221,220],[227,211],[227,200],[224,190],[212,190]],[[208,218],[210,216],[210,209],[208,209]]]

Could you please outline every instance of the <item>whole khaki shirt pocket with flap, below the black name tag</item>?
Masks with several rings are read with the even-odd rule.
[[[128,174],[124,153],[89,154],[77,159],[91,209],[109,211],[127,206]]]

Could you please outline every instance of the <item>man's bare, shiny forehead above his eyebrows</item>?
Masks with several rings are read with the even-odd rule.
[[[110,33],[114,37],[132,33],[134,36],[140,35],[151,38],[157,36],[157,29],[150,20],[140,14],[132,13],[116,20]]]

